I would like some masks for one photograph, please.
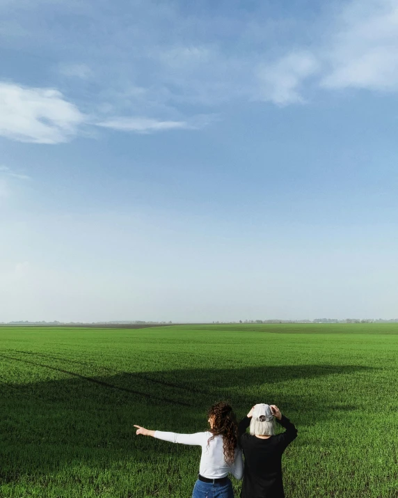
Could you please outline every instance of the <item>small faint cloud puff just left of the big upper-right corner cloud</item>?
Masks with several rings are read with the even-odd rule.
[[[258,98],[278,105],[303,102],[299,89],[318,69],[317,59],[310,52],[292,52],[275,63],[260,65]]]

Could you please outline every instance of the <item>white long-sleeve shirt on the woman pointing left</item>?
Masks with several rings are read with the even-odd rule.
[[[235,458],[232,465],[225,462],[223,452],[223,437],[218,435],[209,443],[212,433],[195,433],[195,434],[177,434],[164,433],[161,430],[155,430],[154,437],[163,439],[171,443],[191,444],[193,446],[202,446],[202,456],[200,457],[199,473],[203,477],[216,479],[228,476],[230,472],[235,478],[241,479],[244,474],[244,462],[240,449],[235,451]]]

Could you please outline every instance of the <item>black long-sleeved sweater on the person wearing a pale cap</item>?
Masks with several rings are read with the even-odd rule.
[[[244,481],[241,498],[284,498],[282,483],[282,453],[296,439],[297,429],[284,415],[278,423],[286,430],[282,434],[260,439],[246,433],[250,419],[239,422],[239,442],[244,452]]]

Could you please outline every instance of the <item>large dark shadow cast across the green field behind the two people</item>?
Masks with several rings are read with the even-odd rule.
[[[333,410],[355,410],[331,404],[331,394],[317,396],[279,383],[351,375],[370,371],[363,366],[255,366],[192,368],[151,373],[111,373],[110,368],[82,361],[15,351],[0,359],[15,372],[31,371],[32,380],[55,375],[61,380],[17,384],[3,368],[0,376],[0,481],[23,476],[33,481],[67,465],[107,469],[112,462],[134,458],[139,462],[159,456],[181,456],[159,441],[136,437],[134,423],[159,430],[206,430],[206,410],[216,400],[228,399],[238,416],[254,403],[278,403],[298,427],[315,419],[327,420]],[[14,377],[15,379],[15,377]],[[253,398],[253,389],[258,393]],[[250,391],[250,392],[248,392]],[[294,394],[292,394],[292,391]],[[303,406],[310,405],[301,414]]]

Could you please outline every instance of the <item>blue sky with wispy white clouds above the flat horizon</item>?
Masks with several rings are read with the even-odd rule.
[[[397,0],[0,17],[0,321],[398,316]]]

